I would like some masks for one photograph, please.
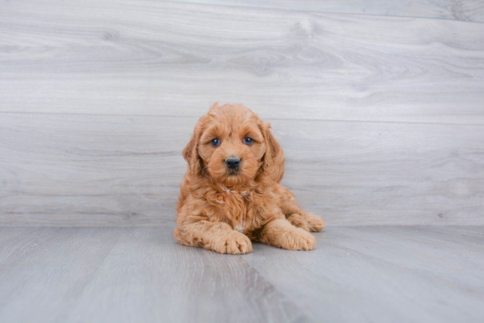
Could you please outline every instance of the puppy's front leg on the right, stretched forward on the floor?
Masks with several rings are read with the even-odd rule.
[[[296,228],[285,218],[275,218],[264,225],[259,241],[287,250],[312,250],[316,238],[309,232]]]

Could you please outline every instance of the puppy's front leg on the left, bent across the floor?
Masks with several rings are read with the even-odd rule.
[[[183,231],[175,228],[173,237],[180,245],[203,247],[219,253],[241,254],[252,251],[250,239],[224,222],[201,220],[189,223],[183,227]]]

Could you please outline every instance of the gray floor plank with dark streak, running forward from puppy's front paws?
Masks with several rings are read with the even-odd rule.
[[[171,228],[125,232],[66,321],[90,304],[91,322],[309,322],[247,258],[183,248]]]

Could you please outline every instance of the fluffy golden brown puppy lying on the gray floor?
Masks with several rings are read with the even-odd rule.
[[[279,184],[284,155],[262,121],[242,104],[212,105],[183,149],[188,162],[180,184],[173,237],[220,253],[252,251],[250,240],[288,250],[316,246],[320,216],[303,211]]]

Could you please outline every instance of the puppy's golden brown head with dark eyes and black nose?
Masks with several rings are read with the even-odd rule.
[[[224,185],[243,185],[273,166],[281,147],[262,121],[242,104],[213,104],[195,125],[183,149],[194,175]]]

